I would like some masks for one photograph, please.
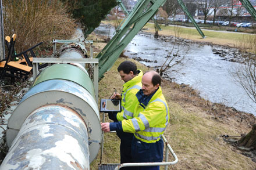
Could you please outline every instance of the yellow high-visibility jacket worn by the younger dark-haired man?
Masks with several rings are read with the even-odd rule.
[[[133,118],[134,108],[138,104],[136,93],[141,89],[141,78],[143,77],[143,72],[141,70],[138,72],[136,77],[123,84],[122,111],[116,115],[118,121]]]

